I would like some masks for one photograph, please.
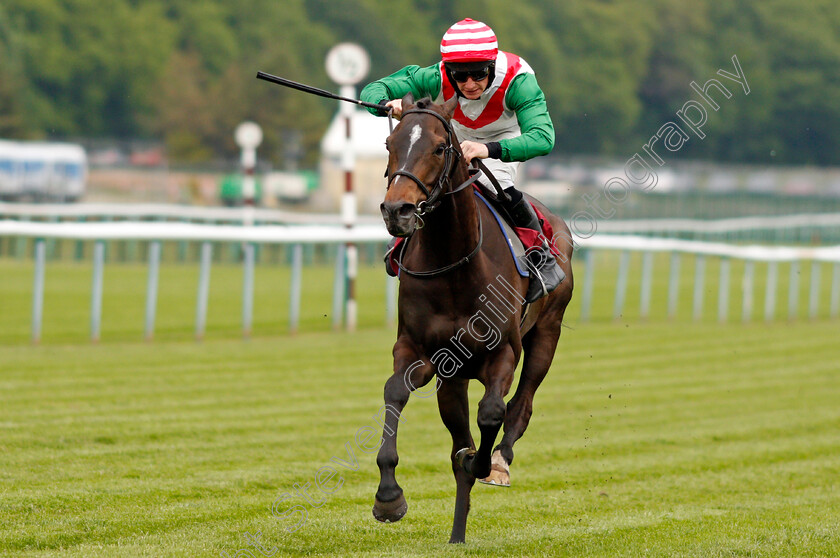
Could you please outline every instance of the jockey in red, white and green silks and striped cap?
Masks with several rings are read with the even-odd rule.
[[[469,18],[446,31],[440,53],[439,64],[406,66],[368,84],[361,99],[382,105],[379,110],[368,109],[371,113],[384,116],[392,109],[399,118],[407,93],[415,99],[430,97],[438,104],[457,95],[452,128],[461,140],[464,159],[467,163],[485,159],[485,166],[510,197],[505,209],[514,225],[542,235],[533,206],[514,185],[521,161],[545,155],[554,147],[554,125],[534,71],[522,58],[500,51],[490,27]],[[542,238],[542,246],[529,251],[528,302],[547,295],[565,278]],[[390,273],[390,266],[386,268]]]

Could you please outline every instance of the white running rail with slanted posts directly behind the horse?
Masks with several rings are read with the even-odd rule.
[[[793,220],[792,220],[793,222]],[[833,226],[833,225],[832,225]],[[641,228],[641,227],[640,227]],[[331,225],[208,225],[182,222],[33,222],[0,221],[0,239],[29,239],[33,243],[34,277],[32,287],[31,339],[41,339],[44,276],[47,265],[47,244],[60,240],[90,242],[93,245],[92,265],[93,281],[91,286],[90,337],[100,338],[102,314],[103,268],[106,263],[106,242],[126,241],[142,242],[147,246],[148,280],[146,286],[146,305],[144,333],[152,339],[155,327],[157,306],[158,273],[163,247],[167,243],[192,243],[199,246],[199,281],[196,292],[195,336],[202,338],[205,331],[208,285],[214,246],[239,246],[241,265],[243,266],[242,288],[242,331],[251,332],[253,316],[254,289],[253,277],[256,253],[259,247],[283,245],[290,250],[292,268],[289,288],[290,309],[289,327],[296,331],[300,317],[301,270],[304,265],[304,248],[316,245],[335,248],[335,279],[333,289],[333,325],[340,327],[342,308],[345,298],[345,247],[348,244],[381,247],[388,235],[381,224],[360,224],[351,229]],[[613,296],[613,317],[622,317],[628,303],[628,284],[631,269],[631,255],[640,254],[641,277],[639,290],[639,315],[647,318],[651,311],[651,298],[654,282],[654,260],[657,254],[670,255],[667,285],[667,315],[674,318],[678,312],[680,296],[680,267],[684,259],[694,260],[694,279],[692,286],[692,318],[702,317],[704,297],[708,296],[706,265],[709,259],[719,260],[719,278],[717,281],[718,320],[729,319],[731,275],[733,261],[743,265],[741,277],[741,320],[750,321],[754,317],[756,264],[766,264],[767,273],[764,286],[764,319],[774,320],[781,317],[776,311],[777,291],[779,286],[780,264],[789,265],[788,312],[787,318],[798,315],[800,303],[800,270],[810,263],[811,273],[808,286],[808,315],[816,318],[824,315],[825,300],[821,300],[822,268],[832,267],[832,279],[828,293],[828,312],[830,318],[840,314],[840,245],[838,246],[758,246],[736,245],[707,241],[684,240],[679,238],[656,238],[633,234],[596,234],[587,239],[576,239],[577,256],[583,262],[583,284],[578,285],[576,297],[580,297],[581,321],[592,317],[595,291],[596,254],[609,251],[619,254],[615,272]],[[396,313],[396,280],[386,282],[384,292],[386,322],[393,323]],[[603,292],[599,297],[610,296]],[[823,311],[821,311],[823,310]]]

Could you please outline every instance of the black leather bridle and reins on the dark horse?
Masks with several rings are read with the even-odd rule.
[[[461,153],[456,149],[456,142],[455,142],[455,134],[452,131],[452,126],[449,122],[440,114],[433,110],[423,109],[423,108],[414,108],[409,109],[402,113],[404,117],[407,114],[430,114],[440,120],[441,124],[443,124],[444,130],[446,130],[446,145],[444,147],[444,160],[443,160],[443,169],[440,171],[440,174],[435,180],[434,185],[429,189],[429,187],[420,180],[416,175],[407,171],[407,170],[398,170],[394,173],[388,173],[387,170],[385,172],[385,176],[388,178],[388,188],[391,187],[391,181],[394,177],[397,176],[404,176],[410,180],[412,180],[420,190],[426,194],[426,199],[421,201],[417,204],[417,210],[415,211],[415,216],[417,217],[417,221],[420,223],[417,226],[417,229],[422,229],[425,225],[422,219],[423,215],[431,213],[435,209],[438,208],[441,204],[441,196],[451,196],[452,194],[456,194],[461,190],[471,186],[478,180],[482,172],[478,169],[470,169],[470,177],[459,184],[456,188],[445,190],[447,186],[452,184],[452,172],[455,170],[455,162],[461,158]],[[389,112],[390,117],[390,112]],[[448,273],[454,269],[465,265],[472,260],[476,254],[478,254],[479,250],[481,250],[481,245],[484,242],[484,227],[482,226],[481,222],[481,212],[478,212],[478,242],[473,248],[472,252],[468,255],[464,256],[460,260],[453,262],[449,265],[445,265],[438,269],[433,269],[431,271],[412,271],[405,267],[402,263],[402,256],[405,252],[405,246],[408,244],[408,241],[402,244],[400,254],[396,258],[397,266],[400,268],[400,271],[403,273],[410,275],[411,277],[417,277],[419,279],[430,279],[432,277],[437,277],[439,275],[443,275],[444,273]]]

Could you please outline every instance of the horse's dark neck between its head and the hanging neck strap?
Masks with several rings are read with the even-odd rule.
[[[469,178],[466,167],[452,177],[457,188]],[[472,186],[443,196],[440,206],[424,216],[425,226],[417,231],[418,244],[425,254],[440,265],[460,260],[476,247],[479,241],[478,207]]]

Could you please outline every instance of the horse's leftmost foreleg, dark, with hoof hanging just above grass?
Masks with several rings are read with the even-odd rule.
[[[395,475],[399,463],[397,427],[403,420],[402,411],[411,392],[423,387],[434,377],[431,365],[420,360],[397,358],[396,349],[394,355],[394,374],[385,382],[385,424],[382,427],[382,445],[376,456],[380,480],[373,516],[383,522],[399,521],[408,511],[408,504]]]

